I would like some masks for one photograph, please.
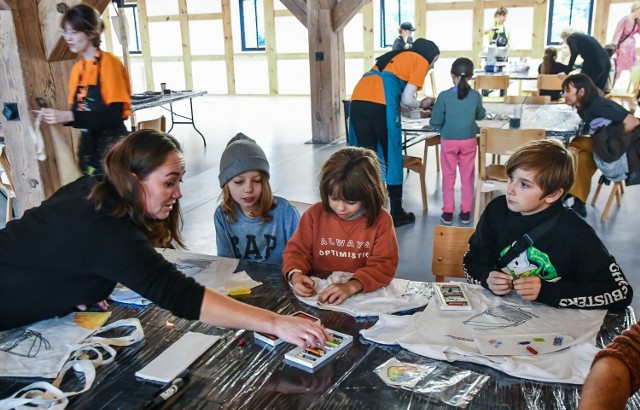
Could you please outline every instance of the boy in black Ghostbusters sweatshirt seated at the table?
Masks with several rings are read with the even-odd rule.
[[[610,309],[631,303],[633,291],[615,258],[594,230],[562,205],[573,185],[574,163],[573,153],[553,140],[533,141],[514,152],[507,162],[507,195],[489,203],[469,240],[468,282],[554,307]],[[533,245],[499,266],[524,234],[554,218]]]

